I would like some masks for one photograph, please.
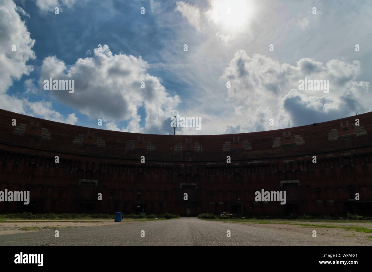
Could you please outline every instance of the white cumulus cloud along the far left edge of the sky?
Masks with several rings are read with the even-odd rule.
[[[26,98],[17,98],[15,95],[6,93],[13,81],[20,80],[23,75],[29,75],[33,71],[32,65],[27,65],[26,62],[36,58],[32,50],[35,40],[30,38],[25,22],[20,19],[19,14],[30,17],[13,1],[0,1],[0,48],[3,49],[0,52],[0,108],[75,124],[77,117],[74,113],[64,118],[60,113],[51,109],[50,102],[29,102]],[[12,51],[13,45],[16,51]],[[35,94],[37,91],[32,79],[26,80],[24,86],[28,94]]]

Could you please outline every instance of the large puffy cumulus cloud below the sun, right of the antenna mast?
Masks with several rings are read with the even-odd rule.
[[[365,111],[360,101],[369,82],[357,81],[360,62],[331,59],[326,64],[302,58],[296,65],[244,50],[235,53],[221,80],[230,81],[227,101],[235,116],[224,133],[301,126]],[[299,80],[330,80],[330,91],[299,90]],[[269,126],[269,119],[275,126]]]

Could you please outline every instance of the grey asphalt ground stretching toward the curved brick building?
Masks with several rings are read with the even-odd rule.
[[[55,237],[56,229],[59,237]],[[198,218],[56,229],[0,235],[0,246],[372,246],[370,233]],[[313,230],[317,237],[313,237]]]

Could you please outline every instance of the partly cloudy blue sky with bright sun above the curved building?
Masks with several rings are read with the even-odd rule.
[[[371,17],[363,0],[0,0],[0,109],[165,135],[174,114],[201,122],[177,135],[215,135],[366,113]]]

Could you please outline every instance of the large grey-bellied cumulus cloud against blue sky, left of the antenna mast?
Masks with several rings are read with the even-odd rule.
[[[147,73],[148,63],[141,56],[113,55],[107,45],[94,56],[80,58],[69,68],[55,56],[44,59],[39,84],[50,77],[74,80],[75,92],[50,91],[64,104],[75,107],[89,118],[102,118],[114,123],[128,120],[125,128],[131,132],[164,133],[165,120],[172,114],[180,98],[167,93],[161,80]],[[141,82],[145,88],[141,88]],[[145,109],[145,126],[140,128],[138,109]],[[114,123],[113,123],[114,122]]]

